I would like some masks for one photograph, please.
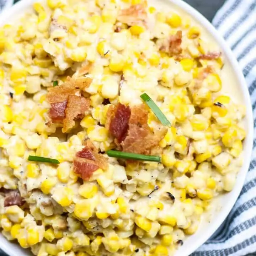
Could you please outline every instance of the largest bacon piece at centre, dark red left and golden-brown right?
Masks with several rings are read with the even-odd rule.
[[[166,129],[153,133],[148,126],[148,111],[145,105],[126,107],[118,103],[107,113],[106,128],[115,137],[122,151],[150,155],[158,148]],[[120,144],[121,143],[121,144]]]

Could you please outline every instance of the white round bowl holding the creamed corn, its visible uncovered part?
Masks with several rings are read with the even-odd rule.
[[[11,7],[9,10],[6,10],[3,14],[0,15],[0,25],[4,25],[6,21],[14,20],[22,13],[26,12],[33,2],[36,0],[22,0]],[[37,0],[38,1],[38,0]],[[244,141],[244,164],[241,167],[241,170],[238,174],[236,185],[230,193],[226,193],[220,197],[220,203],[222,202],[222,208],[215,213],[214,218],[209,223],[208,221],[203,222],[199,227],[196,234],[190,236],[184,241],[184,245],[176,252],[175,256],[188,256],[194,252],[199,246],[201,246],[207,239],[214,234],[214,232],[222,224],[226,216],[229,214],[230,210],[234,206],[236,199],[238,198],[242,186],[245,181],[247,171],[249,169],[251,153],[252,153],[252,143],[253,143],[253,116],[249,92],[247,90],[247,85],[244,79],[244,76],[240,70],[238,62],[236,61],[233,53],[230,48],[225,43],[224,39],[219,35],[215,30],[212,24],[206,20],[199,12],[197,12],[193,7],[186,4],[183,1],[177,0],[156,0],[158,2],[163,1],[165,4],[170,4],[176,9],[180,9],[183,12],[191,15],[194,20],[198,21],[202,27],[214,38],[215,42],[222,49],[222,53],[225,58],[225,67],[231,70],[232,76],[234,76],[237,81],[240,100],[246,106],[246,117],[245,117],[245,129],[247,132],[247,137]],[[150,0],[149,0],[150,2]],[[233,85],[232,85],[233,86]],[[232,91],[234,88],[230,88]],[[0,235],[0,248],[4,250],[10,256],[28,256],[28,251],[22,250],[17,244],[8,242],[2,235]]]

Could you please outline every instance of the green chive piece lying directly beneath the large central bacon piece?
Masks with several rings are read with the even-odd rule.
[[[107,155],[114,158],[132,159],[139,161],[160,162],[160,156],[147,156],[135,153],[127,153],[117,150],[108,150]]]

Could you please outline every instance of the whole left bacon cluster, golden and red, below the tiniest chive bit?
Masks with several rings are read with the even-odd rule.
[[[81,90],[89,87],[92,79],[84,76],[90,65],[83,66],[72,78],[68,77],[64,84],[48,89],[47,101],[51,107],[49,117],[52,123],[63,123],[63,132],[75,125],[75,120],[84,117],[90,102],[81,95]],[[50,122],[49,122],[50,123]]]

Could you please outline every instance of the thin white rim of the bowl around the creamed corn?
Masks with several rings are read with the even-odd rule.
[[[24,9],[25,7],[31,6],[33,2],[36,2],[37,0],[21,0],[14,4],[9,9],[4,9],[4,11],[0,15],[0,25],[4,24],[5,21],[8,21],[8,17],[12,16],[15,12],[17,12],[19,9]],[[42,1],[42,0],[41,0]],[[214,28],[214,26],[196,9],[194,9],[191,5],[187,4],[183,0],[177,1],[177,0],[165,0],[166,2],[170,2],[172,5],[177,6],[182,11],[185,11],[187,14],[189,14],[191,17],[193,17],[194,20],[198,21],[199,24],[205,28],[208,33],[214,38],[215,42],[218,44],[218,46],[222,49],[222,52],[225,55],[225,59],[228,59],[230,62],[230,67],[233,70],[233,72],[236,74],[236,78],[238,78],[238,87],[239,90],[241,90],[245,105],[246,105],[246,123],[248,125],[247,127],[247,135],[246,135],[246,146],[244,148],[244,163],[240,168],[239,171],[239,179],[236,180],[236,185],[233,192],[233,197],[225,203],[224,207],[222,208],[221,212],[218,213],[218,218],[214,218],[212,223],[209,225],[207,230],[204,232],[204,234],[196,240],[196,242],[193,242],[190,244],[190,246],[183,246],[181,247],[181,250],[178,250],[175,253],[175,256],[187,256],[190,255],[192,252],[196,251],[199,246],[204,244],[213,234],[214,232],[219,228],[219,226],[223,223],[225,218],[230,213],[231,209],[233,208],[236,200],[238,199],[238,196],[242,190],[242,187],[245,182],[245,178],[247,175],[247,172],[249,170],[249,165],[251,161],[251,155],[252,155],[252,145],[253,145],[253,135],[254,135],[254,122],[253,122],[253,114],[252,114],[252,107],[251,107],[251,99],[249,95],[249,91],[247,88],[247,84],[244,78],[244,75],[242,74],[241,68],[232,53],[231,49],[229,48],[228,44],[224,41],[223,37],[220,36],[218,31]],[[6,252],[6,254],[9,254],[10,256],[16,256],[17,252],[12,252],[12,247],[7,245],[4,241],[7,241],[2,239],[0,237],[0,247],[3,251]],[[179,252],[180,251],[180,252]]]

